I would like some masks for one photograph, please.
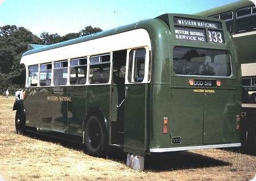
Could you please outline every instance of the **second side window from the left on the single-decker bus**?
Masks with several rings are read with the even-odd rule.
[[[51,86],[52,64],[40,65],[40,86]]]

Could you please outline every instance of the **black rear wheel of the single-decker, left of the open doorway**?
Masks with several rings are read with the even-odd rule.
[[[104,155],[106,146],[106,129],[98,117],[90,116],[85,123],[85,146],[94,156]]]

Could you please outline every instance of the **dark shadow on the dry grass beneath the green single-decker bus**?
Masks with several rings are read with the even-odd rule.
[[[27,136],[42,141],[53,142],[75,150],[83,150],[86,154],[85,146],[71,141],[52,138],[41,134],[27,133]],[[106,150],[106,159],[126,164],[126,155],[122,149],[108,148]],[[188,151],[179,151],[172,153],[157,153],[146,155],[144,161],[144,171],[160,172],[172,170],[200,169],[205,167],[229,166],[229,162],[223,162],[218,159],[206,157],[204,155],[191,153]]]

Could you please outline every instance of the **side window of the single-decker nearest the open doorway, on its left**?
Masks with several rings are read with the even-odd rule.
[[[90,57],[90,84],[108,83],[110,77],[110,54]]]

